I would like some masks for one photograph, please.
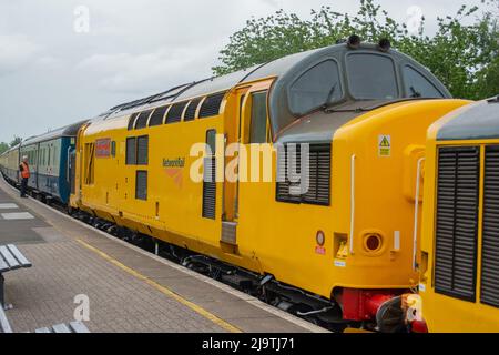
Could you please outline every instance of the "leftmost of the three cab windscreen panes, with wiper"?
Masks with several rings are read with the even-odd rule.
[[[293,114],[304,115],[343,97],[338,64],[324,61],[299,77],[289,89]]]

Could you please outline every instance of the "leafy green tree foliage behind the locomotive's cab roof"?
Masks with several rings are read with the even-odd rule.
[[[499,0],[482,2],[499,8]],[[394,48],[429,68],[457,98],[487,98],[499,93],[498,16],[492,10],[479,14],[479,10],[462,6],[455,16],[439,18],[432,37],[425,34],[425,19],[417,33],[410,33],[407,24],[390,18],[375,0],[360,0],[355,16],[323,7],[304,20],[279,10],[267,18],[248,20],[244,29],[230,38],[220,52],[222,64],[213,71],[225,74],[330,45],[355,33],[369,42],[389,39]]]

